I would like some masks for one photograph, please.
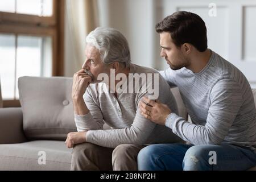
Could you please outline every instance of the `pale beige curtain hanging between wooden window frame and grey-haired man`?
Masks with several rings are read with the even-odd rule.
[[[98,8],[97,0],[65,2],[65,76],[73,76],[85,59],[86,35],[98,26]]]

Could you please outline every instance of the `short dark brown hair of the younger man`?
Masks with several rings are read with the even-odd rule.
[[[200,52],[207,49],[207,28],[204,20],[195,13],[177,11],[167,16],[155,26],[156,32],[170,32],[177,47],[192,44]]]

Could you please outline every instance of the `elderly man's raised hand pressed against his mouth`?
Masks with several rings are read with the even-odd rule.
[[[73,76],[72,98],[82,97],[86,88],[92,82],[92,77],[84,71],[84,69],[80,69]]]

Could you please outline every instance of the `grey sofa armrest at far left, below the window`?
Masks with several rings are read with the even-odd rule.
[[[22,143],[27,139],[23,133],[21,107],[0,109],[0,144]]]

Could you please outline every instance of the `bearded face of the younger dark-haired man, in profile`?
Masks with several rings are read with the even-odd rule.
[[[172,42],[169,32],[160,33],[160,46],[162,47],[160,56],[164,57],[171,69],[177,70],[189,65],[189,61],[181,51],[181,48],[176,47]]]

